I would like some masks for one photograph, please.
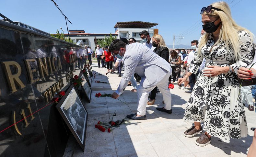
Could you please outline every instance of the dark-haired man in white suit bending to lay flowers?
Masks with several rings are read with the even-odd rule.
[[[122,80],[117,90],[112,94],[112,98],[116,99],[123,93],[134,72],[141,76],[141,83],[137,88],[138,112],[127,115],[127,118],[145,120],[148,93],[156,86],[162,92],[165,102],[165,107],[157,107],[157,110],[171,114],[171,94],[168,89],[168,79],[172,70],[169,63],[140,43],[126,45],[120,39],[115,39],[109,50],[116,54],[117,58],[123,59],[125,65]]]

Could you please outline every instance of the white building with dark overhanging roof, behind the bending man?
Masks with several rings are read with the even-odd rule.
[[[139,33],[143,30],[148,31],[149,36],[158,34],[158,23],[142,22],[142,21],[130,21],[130,22],[117,22],[115,27],[116,34],[120,38],[134,38],[137,42],[142,42]],[[156,26],[154,29],[153,27]]]

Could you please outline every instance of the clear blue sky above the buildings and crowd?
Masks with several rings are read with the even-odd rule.
[[[183,34],[175,44],[190,45],[199,39],[202,29],[201,8],[217,0],[55,0],[72,24],[69,29],[83,29],[87,33],[114,33],[116,22],[145,21],[159,23],[157,28],[167,45],[173,34]],[[231,3],[235,21],[256,35],[254,0],[225,0]],[[64,17],[51,0],[2,1],[1,13],[13,21],[20,21],[46,32],[66,30]],[[190,28],[190,29],[189,29]],[[192,29],[193,28],[193,29]],[[65,31],[66,33],[66,31]]]

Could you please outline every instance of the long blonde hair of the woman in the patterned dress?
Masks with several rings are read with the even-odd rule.
[[[244,30],[247,33],[249,33],[250,38],[252,39],[251,40],[252,42],[253,42],[253,34],[246,28],[243,28],[237,25],[237,23],[231,17],[231,11],[226,2],[215,2],[212,4],[212,6],[218,9],[221,9],[222,11],[217,11],[212,9],[209,13],[206,13],[204,11],[202,15],[219,17],[221,20],[221,29],[220,29],[219,39],[215,41],[215,44],[217,44],[219,40],[222,39],[229,52],[230,52],[230,47],[228,45],[231,45],[231,49],[233,48],[234,50],[234,55],[235,55],[234,59],[235,61],[239,61],[240,59],[240,48],[239,48],[239,37],[238,37],[239,31]],[[205,33],[202,36],[201,41],[198,45],[198,50],[197,50],[198,56],[202,55],[201,49],[203,46],[206,45],[209,35],[210,33]]]

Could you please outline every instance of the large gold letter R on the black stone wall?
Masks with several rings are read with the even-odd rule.
[[[25,85],[19,79],[19,76],[21,74],[20,65],[15,61],[6,61],[6,62],[1,62],[1,63],[2,63],[3,68],[4,68],[4,72],[5,72],[5,75],[6,75],[6,80],[7,80],[7,83],[9,85],[10,92],[14,93],[14,92],[17,91],[15,84],[18,85],[20,88],[24,88]],[[11,68],[10,68],[11,65],[13,67],[15,67],[17,73],[12,74]]]

